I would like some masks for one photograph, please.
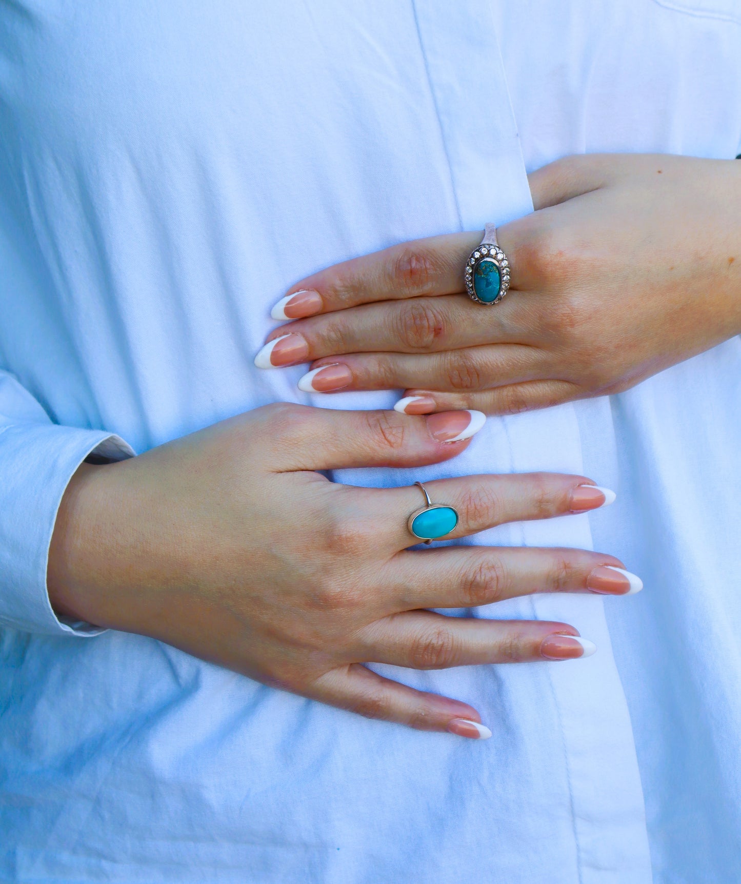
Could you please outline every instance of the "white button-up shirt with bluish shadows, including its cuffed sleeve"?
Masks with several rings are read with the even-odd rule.
[[[473,703],[486,743],[60,623],[45,570],[96,446],[139,453],[274,400],[390,407],[253,367],[291,283],[518,217],[526,171],[558,156],[731,158],[740,59],[737,0],[0,6],[0,879],[737,879],[739,339],[609,399],[492,418],[456,461],[337,476],[554,469],[618,492],[471,541],[594,540],[641,575],[635,598],[475,612],[573,623],[594,657],[381,667]]]

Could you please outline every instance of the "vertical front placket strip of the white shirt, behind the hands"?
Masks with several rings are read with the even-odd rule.
[[[526,215],[533,202],[491,8],[468,0],[416,0],[414,6],[462,229],[482,229],[487,222],[503,225]],[[517,296],[516,291],[510,294]],[[490,418],[477,445],[483,448],[487,437],[501,445],[503,436],[513,471],[582,472],[571,404]],[[592,548],[586,516],[512,527],[513,539],[519,532],[523,545]],[[638,763],[602,599],[541,595],[532,598],[532,610],[540,619],[574,623],[600,649],[588,661],[552,665],[557,713],[556,720],[544,722],[546,732],[563,741],[570,793],[563,801],[571,803],[575,880],[596,882],[601,870],[611,868],[630,874],[636,884],[648,882]],[[495,606],[483,615],[501,616]],[[631,820],[627,828],[626,819]]]

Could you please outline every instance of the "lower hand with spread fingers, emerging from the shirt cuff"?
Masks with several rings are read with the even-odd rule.
[[[419,488],[355,488],[314,472],[445,461],[468,445],[445,440],[465,436],[470,420],[275,405],[130,461],[83,465],[52,537],[52,604],[323,703],[478,736],[471,706],[363,664],[427,669],[582,656],[589,644],[568,637],[578,632],[565,623],[425,609],[533,591],[624,594],[631,579],[614,570],[622,563],[580,550],[410,550],[416,541],[406,521],[423,505]],[[435,501],[457,507],[451,537],[605,502],[583,476],[471,476],[427,487]]]

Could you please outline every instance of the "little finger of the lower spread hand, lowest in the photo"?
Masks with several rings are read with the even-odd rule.
[[[306,696],[369,719],[396,721],[417,730],[449,731],[473,739],[491,736],[473,706],[413,690],[359,664],[322,675]]]

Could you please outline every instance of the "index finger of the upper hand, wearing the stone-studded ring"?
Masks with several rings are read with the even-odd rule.
[[[466,232],[412,240],[335,264],[291,286],[272,315],[296,319],[371,301],[462,292],[465,260],[481,236],[482,232]],[[298,293],[301,297],[294,300]],[[299,313],[294,309],[297,301],[304,304]]]

